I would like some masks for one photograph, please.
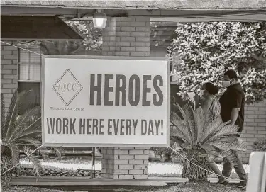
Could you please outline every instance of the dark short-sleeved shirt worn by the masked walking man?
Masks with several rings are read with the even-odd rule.
[[[238,125],[238,132],[242,132],[244,127],[244,111],[245,111],[245,94],[240,84],[228,86],[227,90],[220,98],[221,117],[223,122],[231,120],[233,108],[240,108],[238,118],[235,125]]]

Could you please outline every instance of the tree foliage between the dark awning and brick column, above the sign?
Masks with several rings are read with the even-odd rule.
[[[92,21],[65,21],[83,40],[30,40],[19,41],[23,47],[40,45],[44,54],[79,55],[86,50],[101,51],[101,28],[94,28]]]

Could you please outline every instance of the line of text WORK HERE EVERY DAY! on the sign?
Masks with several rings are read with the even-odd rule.
[[[47,118],[48,134],[163,135],[163,120]],[[137,130],[140,123],[140,130]],[[104,127],[107,129],[104,129]]]

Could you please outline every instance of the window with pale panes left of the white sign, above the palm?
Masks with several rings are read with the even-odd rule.
[[[33,52],[41,54],[40,47],[28,48]],[[18,50],[18,91],[29,91],[27,96],[28,104],[40,104],[41,98],[41,62],[42,58],[33,52]]]

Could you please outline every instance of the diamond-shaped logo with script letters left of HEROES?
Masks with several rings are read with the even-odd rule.
[[[82,91],[82,88],[82,85],[79,84],[79,81],[70,72],[70,69],[67,69],[54,86],[52,86],[52,89],[55,90],[55,93],[57,93],[66,106],[70,105],[77,94]]]

